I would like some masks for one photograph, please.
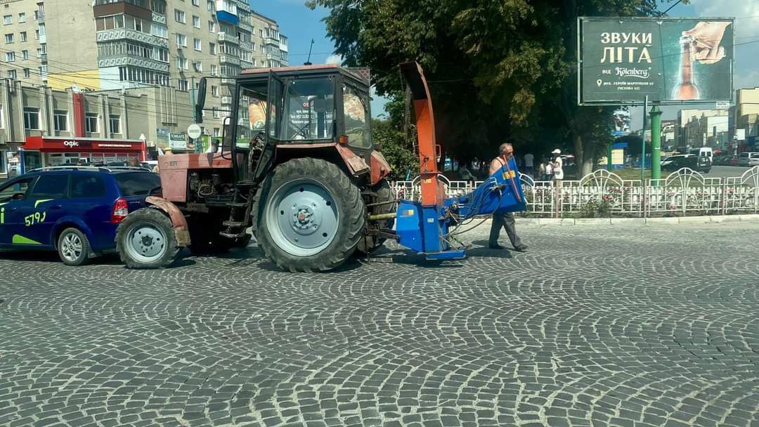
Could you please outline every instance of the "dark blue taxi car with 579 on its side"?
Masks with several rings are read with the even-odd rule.
[[[57,250],[83,265],[115,250],[121,220],[146,207],[159,175],[138,168],[44,168],[0,184],[0,249]]]

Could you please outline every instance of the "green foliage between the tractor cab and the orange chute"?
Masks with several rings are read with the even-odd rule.
[[[411,137],[406,140],[403,132],[390,121],[372,121],[372,140],[392,168],[391,180],[405,180],[408,170],[411,170],[411,177],[416,177],[419,171],[419,158],[413,149],[416,135]]]

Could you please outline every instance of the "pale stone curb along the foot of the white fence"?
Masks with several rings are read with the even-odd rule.
[[[490,220],[488,220],[490,221]],[[519,225],[692,225],[724,222],[759,222],[759,215],[713,215],[663,218],[516,218]]]

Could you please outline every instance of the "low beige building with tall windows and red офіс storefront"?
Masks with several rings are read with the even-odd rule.
[[[168,86],[81,92],[0,80],[0,180],[83,158],[107,164],[165,149],[193,122],[186,99]]]

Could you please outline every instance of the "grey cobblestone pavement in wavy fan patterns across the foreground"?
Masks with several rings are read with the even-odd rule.
[[[759,425],[759,225],[289,274],[0,256],[0,425]]]

